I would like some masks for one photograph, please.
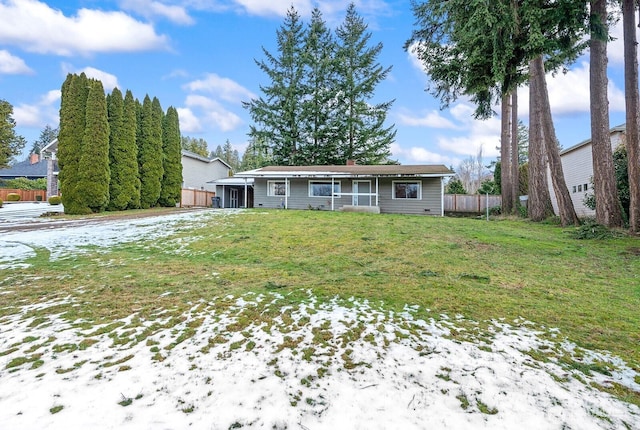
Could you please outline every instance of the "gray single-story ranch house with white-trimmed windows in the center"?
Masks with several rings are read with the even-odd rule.
[[[444,215],[442,165],[269,166],[253,179],[253,207]]]

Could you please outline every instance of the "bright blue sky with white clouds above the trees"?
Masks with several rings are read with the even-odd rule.
[[[204,138],[210,149],[228,139],[242,154],[251,118],[242,101],[260,95],[266,75],[254,60],[262,48],[277,53],[276,30],[289,6],[305,22],[320,7],[339,25],[349,0],[0,0],[0,98],[14,107],[17,132],[31,143],[42,128],[57,126],[60,86],[67,73],[85,72],[107,91],[130,89],[156,96],[180,114],[183,135]],[[475,121],[465,100],[440,110],[425,88],[427,75],[403,50],[414,18],[408,0],[356,0],[358,13],[382,42],[378,58],[392,66],[376,101],[395,99],[387,118],[395,124],[392,158],[402,164],[457,167],[482,147],[497,155],[499,119]],[[611,126],[624,122],[622,33],[609,44]],[[568,74],[549,76],[556,132],[567,148],[589,138],[588,53]],[[527,89],[519,92],[528,123]],[[499,110],[499,109],[497,109]],[[28,148],[27,148],[28,149]]]

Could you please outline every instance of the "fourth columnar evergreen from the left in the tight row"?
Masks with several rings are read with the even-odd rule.
[[[120,179],[122,194],[128,195],[126,209],[140,207],[140,174],[138,171],[137,103],[130,90],[124,96],[122,109],[122,150]]]

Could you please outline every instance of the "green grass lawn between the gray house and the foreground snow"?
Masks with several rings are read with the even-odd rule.
[[[170,238],[192,239],[179,253],[169,239],[53,262],[39,253],[31,267],[0,280],[0,288],[10,290],[3,295],[0,320],[25,304],[55,302],[33,308],[25,318],[40,326],[56,314],[86,330],[78,345],[52,346],[67,354],[90,348],[92,337],[102,333],[114,346],[146,342],[158,330],[182,324],[197,303],[222,311],[233,306],[229,296],[253,292],[283,294],[297,304],[310,290],[319,300],[354,297],[398,311],[417,305],[418,317],[461,315],[480,328],[500,318],[528,320],[558,328],[580,347],[611,351],[640,370],[640,242],[577,240],[573,231],[518,220],[252,210],[194,223]],[[129,323],[119,321],[134,313]],[[228,329],[242,332],[263,323],[266,330],[281,324],[276,317],[287,323],[290,314],[247,309]],[[135,331],[140,321],[160,319]],[[171,348],[199,324],[183,324]],[[361,333],[356,322],[342,340]],[[458,335],[464,334],[452,334]],[[322,330],[314,332],[318,347],[326,342],[323,336]],[[212,344],[226,341],[211,335]],[[242,341],[233,347],[253,345]],[[300,353],[309,359],[308,351]],[[19,357],[9,366],[37,358]]]

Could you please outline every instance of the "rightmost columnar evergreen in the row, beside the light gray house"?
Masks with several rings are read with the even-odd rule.
[[[167,109],[162,121],[162,151],[164,162],[159,203],[161,206],[173,207],[180,203],[182,193],[180,119],[178,111],[173,106]]]

